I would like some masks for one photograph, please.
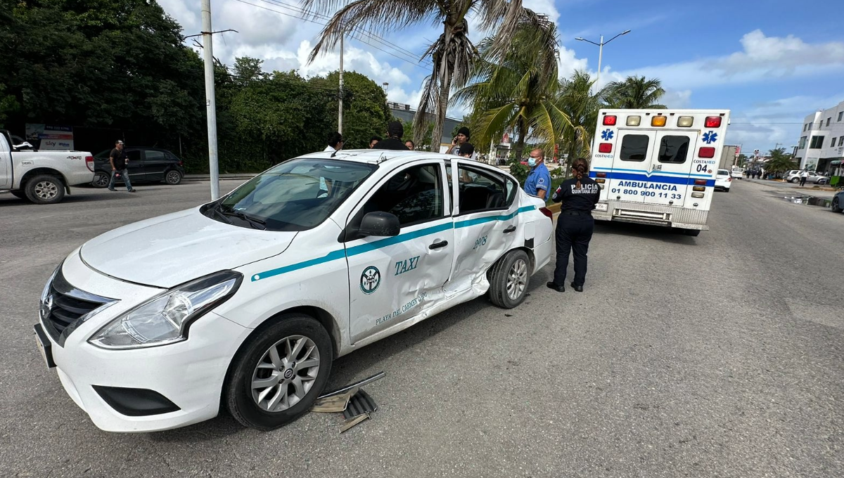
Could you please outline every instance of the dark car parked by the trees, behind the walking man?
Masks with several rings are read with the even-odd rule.
[[[111,164],[108,155],[111,149],[94,155],[94,187],[106,187],[111,180]],[[166,149],[159,148],[126,148],[129,156],[129,179],[133,184],[138,182],[164,181],[169,185],[181,183],[185,169],[181,167],[181,159]],[[118,182],[122,182],[118,180]]]

